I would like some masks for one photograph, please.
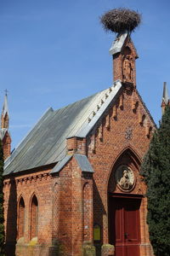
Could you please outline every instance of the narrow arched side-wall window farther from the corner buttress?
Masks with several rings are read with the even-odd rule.
[[[25,202],[23,197],[19,201],[19,214],[18,214],[18,238],[24,236],[25,228]]]

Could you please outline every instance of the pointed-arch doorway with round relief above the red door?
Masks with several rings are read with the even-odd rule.
[[[116,256],[140,255],[140,206],[143,197],[139,160],[127,149],[116,161],[108,186],[109,242]]]

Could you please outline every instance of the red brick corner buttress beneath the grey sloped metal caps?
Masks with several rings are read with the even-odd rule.
[[[59,255],[81,255],[82,242],[93,241],[93,180],[73,157],[54,177],[53,236]]]

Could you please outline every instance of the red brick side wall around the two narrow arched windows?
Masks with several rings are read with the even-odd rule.
[[[37,236],[37,243],[48,247],[52,244],[52,177],[48,174],[49,170],[42,172],[34,172],[30,174],[23,174],[17,177],[6,178],[4,180],[4,215],[5,215],[5,231],[6,243],[15,244],[17,239],[21,236],[18,230],[19,223],[19,201],[22,196],[25,202],[25,225],[24,225],[24,243],[29,244],[31,237]],[[37,196],[38,203],[38,224],[35,204],[32,205],[32,196]],[[31,211],[32,209],[32,211]],[[34,224],[31,224],[31,221]],[[31,226],[37,225],[37,231],[31,230]],[[15,228],[17,226],[17,229]],[[37,233],[37,235],[36,235]],[[15,249],[15,246],[13,246]],[[12,246],[10,246],[12,250]],[[9,251],[7,255],[12,256],[13,253]],[[45,254],[44,254],[45,255]],[[21,255],[20,255],[21,256]],[[35,254],[36,256],[36,254]]]

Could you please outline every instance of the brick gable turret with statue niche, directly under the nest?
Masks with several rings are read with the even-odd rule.
[[[135,60],[138,58],[128,32],[119,33],[111,45],[110,54],[113,56],[113,80],[121,80],[123,84],[136,87]]]

